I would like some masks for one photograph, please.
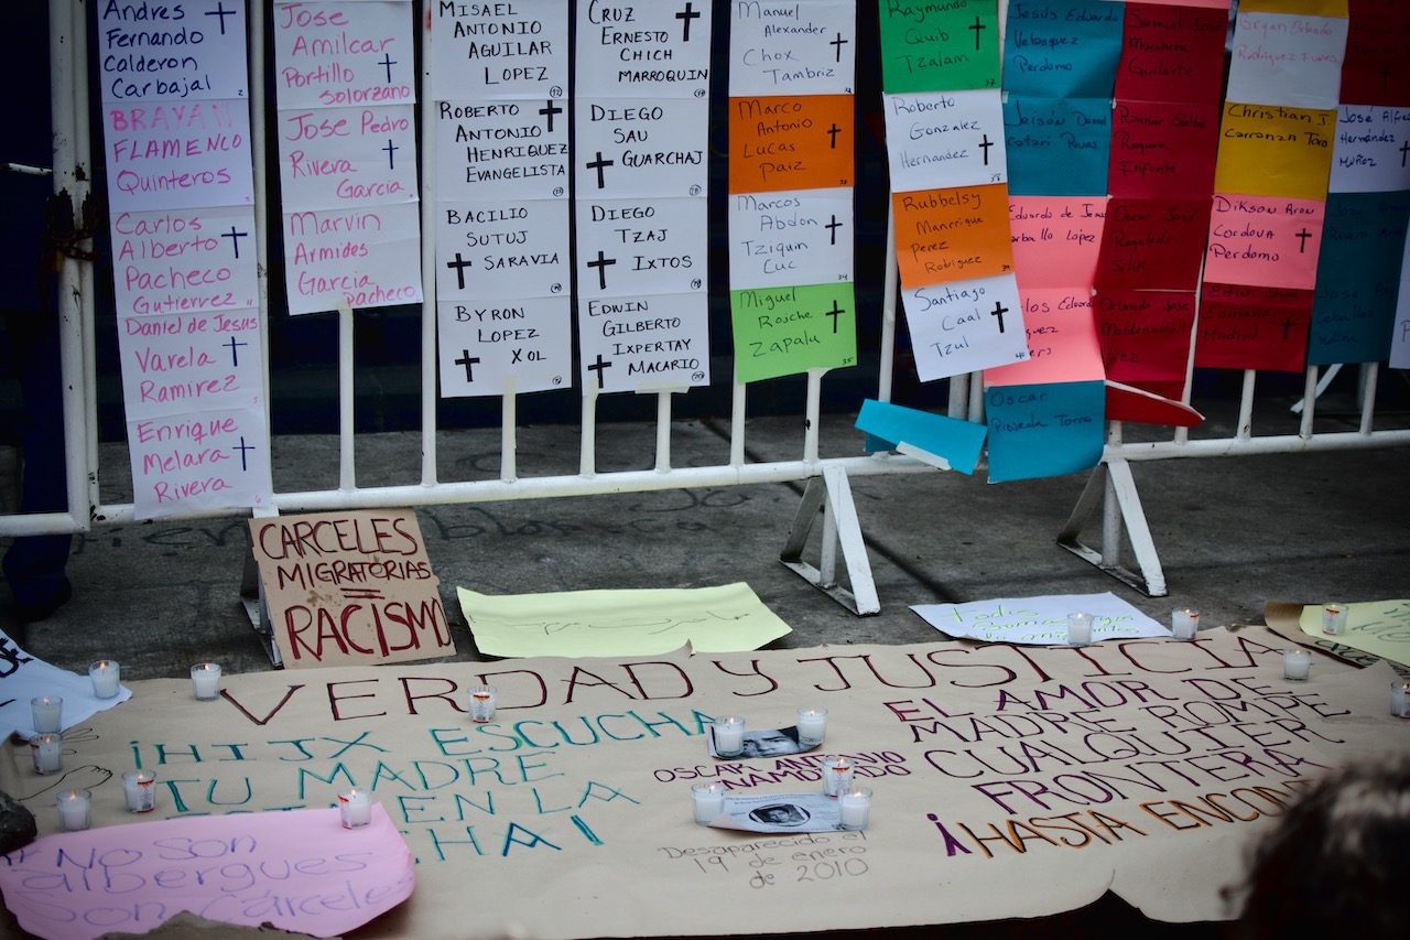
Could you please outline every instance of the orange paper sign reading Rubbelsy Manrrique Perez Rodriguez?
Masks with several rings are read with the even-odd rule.
[[[908,288],[1008,274],[1008,186],[921,189],[891,195],[895,254]]]

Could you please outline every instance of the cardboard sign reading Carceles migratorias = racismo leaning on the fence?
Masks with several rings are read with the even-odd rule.
[[[286,668],[455,653],[410,510],[250,519],[250,543]]]

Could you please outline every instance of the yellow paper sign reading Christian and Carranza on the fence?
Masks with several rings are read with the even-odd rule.
[[[1215,192],[1325,199],[1337,112],[1224,104]]]

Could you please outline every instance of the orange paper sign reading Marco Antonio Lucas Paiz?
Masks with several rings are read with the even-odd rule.
[[[852,95],[729,99],[729,191],[852,185]]]

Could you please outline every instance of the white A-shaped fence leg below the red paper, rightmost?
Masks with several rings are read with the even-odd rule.
[[[1115,507],[1111,505],[1112,498]],[[1098,504],[1103,510],[1104,534],[1100,552],[1077,538]],[[1136,556],[1139,574],[1121,565],[1121,525],[1112,515],[1114,508],[1120,510],[1120,522],[1125,524],[1125,532],[1131,538],[1131,550]],[[1127,460],[1104,460],[1097,464],[1077,498],[1077,505],[1067,517],[1067,524],[1058,534],[1058,545],[1148,597],[1165,597],[1170,593],[1165,584],[1165,570],[1160,567],[1151,528],[1146,525],[1145,510],[1141,508],[1141,494],[1136,493],[1136,483],[1131,476],[1131,463]]]

